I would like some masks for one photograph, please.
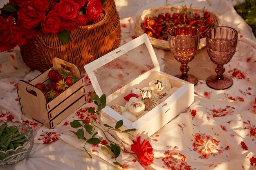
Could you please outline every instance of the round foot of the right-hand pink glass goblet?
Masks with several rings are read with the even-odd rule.
[[[223,75],[223,80],[216,80],[217,75],[211,75],[206,79],[206,84],[215,90],[224,90],[232,86],[233,80],[227,75]]]

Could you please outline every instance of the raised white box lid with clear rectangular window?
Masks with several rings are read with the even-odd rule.
[[[106,94],[107,103],[139,84],[159,63],[148,36],[143,34],[84,66],[97,95]]]

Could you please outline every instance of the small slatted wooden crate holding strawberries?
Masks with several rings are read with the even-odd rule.
[[[29,83],[20,80],[17,91],[18,97],[20,97],[22,114],[42,123],[47,128],[54,128],[77,108],[85,104],[86,100],[84,78],[81,77],[79,68],[70,62],[56,57],[53,58],[52,63],[52,68],[63,68],[67,72],[75,73],[76,77],[79,78],[78,81],[62,91],[54,99],[47,101],[43,91],[35,85],[37,83],[47,84],[50,81],[48,73],[52,68],[49,68]],[[34,91],[35,94],[31,94],[29,91]]]

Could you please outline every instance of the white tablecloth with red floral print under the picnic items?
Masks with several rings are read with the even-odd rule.
[[[230,26],[230,22],[225,21]],[[120,24],[122,44],[135,38],[133,17],[122,19]],[[194,89],[195,101],[193,104],[148,139],[155,155],[153,164],[143,167],[136,157],[121,152],[117,161],[122,164],[123,169],[256,169],[256,42],[255,39],[247,38],[245,34],[243,31],[240,32],[236,53],[232,60],[225,65],[225,73],[234,80],[233,86],[227,90],[216,91],[209,88],[204,80],[200,80]],[[155,53],[161,70],[164,71],[164,50],[155,49]],[[90,99],[90,94],[94,93],[94,90],[88,75],[85,71],[82,72],[82,76],[85,78],[87,103],[51,130],[26,118],[20,111],[16,92],[17,82],[20,79],[30,81],[39,74],[39,71],[30,71],[25,66],[19,48],[9,53],[0,53],[0,121],[22,121],[29,124],[34,130],[36,144],[57,148],[61,146],[57,146],[55,142],[62,140],[64,142],[58,144],[63,145],[63,148],[68,143],[76,149],[83,150],[85,143],[70,132],[70,130],[75,130],[71,128],[70,122],[87,117],[94,117],[99,121],[99,117],[90,114],[87,109],[95,107]],[[99,136],[103,136],[100,131]],[[111,136],[108,137],[112,139]],[[107,144],[108,141],[103,138],[100,144],[86,144],[85,147],[90,154],[95,155],[93,160],[103,159],[109,163],[109,167],[115,168],[113,165],[115,159],[101,151],[101,146]],[[124,147],[130,150],[130,146]],[[76,149],[73,148],[73,150]],[[31,153],[34,150],[35,148]],[[65,152],[62,154],[68,155]],[[55,160],[54,157],[61,156],[55,155],[49,159]],[[79,169],[68,161],[64,162],[64,165],[65,163],[67,167]],[[88,169],[93,169],[96,166],[93,163],[88,165]],[[0,167],[0,169],[22,169],[22,167],[24,168],[24,163],[20,162],[13,166]],[[54,165],[54,161],[49,165],[42,163],[31,167],[47,170],[56,167],[58,169],[58,166]],[[116,166],[116,169],[118,168]]]

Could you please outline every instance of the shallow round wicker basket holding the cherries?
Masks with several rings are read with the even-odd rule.
[[[216,15],[216,13],[213,13],[212,11],[209,11],[207,9],[192,8],[192,7],[189,7],[186,10],[191,13],[198,13],[200,14],[200,16],[202,16],[204,12],[209,12],[215,19],[213,26],[223,25],[220,16]],[[143,11],[141,14],[137,15],[135,20],[135,31],[138,36],[145,33],[144,30],[141,29],[141,23],[144,22],[148,16],[152,18],[152,17],[158,16],[158,14],[164,14],[164,13],[170,13],[172,15],[173,13],[180,13],[181,11],[184,11],[184,7],[165,6],[165,7],[153,7],[153,8],[147,9]],[[168,41],[159,40],[157,38],[152,38],[152,37],[148,37],[148,38],[152,46],[157,47],[159,49],[166,49],[166,50],[170,49]],[[199,49],[201,49],[204,46],[205,46],[205,38],[201,38]]]

